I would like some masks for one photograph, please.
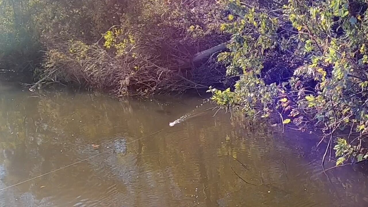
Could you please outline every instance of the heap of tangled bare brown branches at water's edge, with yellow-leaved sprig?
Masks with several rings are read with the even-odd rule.
[[[81,41],[49,44],[44,64],[47,70],[42,75],[49,80],[45,81],[72,81],[123,96],[208,88],[224,77],[219,66],[203,70],[200,64],[192,70],[190,52],[167,37],[114,26],[103,38],[103,46],[101,39],[91,45]],[[207,63],[211,62],[215,62],[213,58]]]

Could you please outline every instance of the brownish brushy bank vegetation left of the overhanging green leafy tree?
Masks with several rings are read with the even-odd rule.
[[[193,60],[229,38],[218,29],[227,17],[214,0],[4,0],[0,6],[6,39],[0,67],[28,69],[40,80],[33,88],[78,83],[118,96],[149,95],[229,79],[224,69]],[[217,64],[215,55],[209,58]]]

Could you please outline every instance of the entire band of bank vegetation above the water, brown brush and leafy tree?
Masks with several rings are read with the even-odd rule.
[[[210,87],[253,119],[321,130],[323,160],[335,145],[336,164],[353,164],[368,158],[367,12],[362,0],[1,0],[0,69],[31,74],[31,89]]]

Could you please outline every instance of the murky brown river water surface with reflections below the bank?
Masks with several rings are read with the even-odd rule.
[[[329,181],[303,134],[212,110],[169,127],[210,107],[201,103],[0,84],[0,188],[94,156],[1,190],[0,206],[368,205],[364,167],[337,168]]]

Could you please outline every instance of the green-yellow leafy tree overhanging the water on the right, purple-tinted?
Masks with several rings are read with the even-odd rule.
[[[324,159],[337,140],[337,165],[367,159],[367,3],[289,0],[272,10],[257,2],[226,4],[231,23],[221,29],[231,34],[230,52],[218,59],[240,80],[233,92],[214,90],[213,99],[249,116],[280,112],[298,129],[321,129],[328,143]],[[290,74],[286,80],[266,76],[265,62],[273,53],[295,60],[276,67],[277,73]],[[347,136],[337,133],[344,129]]]

